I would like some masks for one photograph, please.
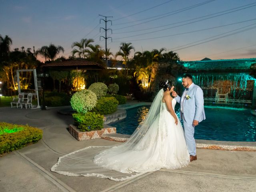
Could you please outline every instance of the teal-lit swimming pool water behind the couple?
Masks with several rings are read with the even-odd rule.
[[[116,132],[132,134],[142,121],[150,106],[140,106],[127,110],[127,117],[113,122]],[[179,105],[175,108],[179,116]],[[205,106],[206,120],[195,128],[195,139],[218,141],[256,141],[256,116],[245,108]]]

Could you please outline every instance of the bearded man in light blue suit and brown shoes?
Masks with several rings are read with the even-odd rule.
[[[183,120],[185,139],[191,162],[197,160],[194,139],[195,126],[205,120],[204,94],[202,89],[193,83],[190,74],[183,76],[182,85],[185,88],[182,96],[178,96],[175,91],[172,92],[172,96],[180,104],[180,120]]]

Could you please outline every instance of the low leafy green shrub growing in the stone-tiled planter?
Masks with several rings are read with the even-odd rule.
[[[80,131],[101,130],[103,128],[103,115],[96,114],[95,112],[74,113],[76,126]]]

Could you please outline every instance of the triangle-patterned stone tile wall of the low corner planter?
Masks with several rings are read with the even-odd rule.
[[[104,136],[106,134],[116,133],[116,128],[109,127],[109,128],[103,128],[101,130],[82,132],[78,130],[76,126],[71,124],[68,126],[68,131],[74,138],[76,138],[76,140],[82,141],[82,140],[90,140],[90,139],[99,139],[99,138],[102,138],[102,135]]]

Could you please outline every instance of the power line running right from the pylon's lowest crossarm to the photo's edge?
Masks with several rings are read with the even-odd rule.
[[[220,25],[220,26],[215,26],[215,27],[210,27],[210,28],[204,28],[204,29],[189,31],[189,32],[183,32],[183,33],[177,33],[177,34],[165,35],[165,36],[159,36],[159,37],[152,37],[152,38],[144,38],[144,39],[136,39],[136,40],[127,40],[127,41],[133,42],[133,41],[142,41],[142,40],[150,40],[150,39],[158,39],[158,38],[164,38],[164,37],[171,37],[171,36],[189,34],[189,33],[194,33],[194,32],[199,32],[199,31],[204,31],[204,30],[210,30],[210,29],[215,29],[215,28],[230,26],[230,25],[239,24],[239,23],[244,23],[244,22],[249,22],[249,21],[253,21],[253,20],[256,20],[256,18],[250,19],[250,20],[245,20],[245,21],[240,21],[240,22],[235,22],[235,23],[230,23],[230,24],[226,24],[226,25]],[[114,41],[114,42],[122,42],[122,41]]]

